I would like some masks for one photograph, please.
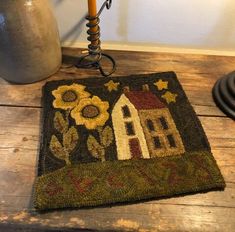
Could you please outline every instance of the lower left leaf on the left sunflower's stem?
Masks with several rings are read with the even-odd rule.
[[[66,164],[70,164],[69,153],[63,148],[55,135],[52,135],[49,147],[55,157],[64,160]]]

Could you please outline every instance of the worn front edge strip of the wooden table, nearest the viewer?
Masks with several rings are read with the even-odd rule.
[[[234,231],[235,209],[134,204],[96,209],[2,214],[3,222],[121,231]]]

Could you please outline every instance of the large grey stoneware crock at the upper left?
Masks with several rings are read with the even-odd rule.
[[[58,29],[48,0],[0,0],[0,77],[32,83],[60,65]]]

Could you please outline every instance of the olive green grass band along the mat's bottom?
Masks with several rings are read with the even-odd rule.
[[[79,192],[68,173],[73,173],[78,182],[92,179],[92,185],[85,188],[85,192]],[[115,177],[117,186],[110,186],[107,181],[110,176]],[[172,182],[176,176],[177,181]],[[48,195],[49,183],[63,191]],[[66,166],[37,178],[34,205],[38,210],[90,207],[224,188],[224,179],[211,152],[199,151],[182,156]]]

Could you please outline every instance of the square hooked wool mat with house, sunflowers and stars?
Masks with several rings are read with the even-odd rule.
[[[174,72],[51,81],[42,101],[38,210],[225,188]]]

